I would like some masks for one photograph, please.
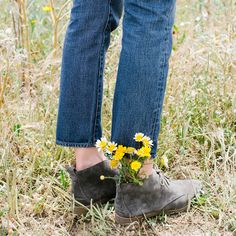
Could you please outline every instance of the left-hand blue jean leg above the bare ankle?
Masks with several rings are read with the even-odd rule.
[[[121,0],[74,0],[63,45],[56,144],[94,146],[102,136],[103,69]]]

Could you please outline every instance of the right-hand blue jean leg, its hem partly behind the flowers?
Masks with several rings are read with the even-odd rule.
[[[156,156],[172,49],[175,0],[125,0],[122,50],[112,108],[111,139],[138,148],[143,132]]]

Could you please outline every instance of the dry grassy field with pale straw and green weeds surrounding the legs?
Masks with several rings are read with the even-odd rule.
[[[64,166],[74,157],[55,145],[55,127],[72,1],[0,2],[1,235],[236,235],[235,0],[177,1],[156,162],[168,158],[173,178],[201,179],[205,194],[189,212],[140,227],[115,225],[112,203],[79,219],[71,211]],[[121,27],[105,69],[108,138],[120,43]]]

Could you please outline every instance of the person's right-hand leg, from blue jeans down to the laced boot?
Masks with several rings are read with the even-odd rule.
[[[142,132],[153,140],[152,157],[156,156],[174,14],[175,0],[125,0],[112,141],[136,146],[133,137],[135,133]],[[127,224],[161,212],[186,210],[191,199],[200,191],[199,181],[170,180],[152,169],[152,161],[144,167],[148,178],[142,185],[117,185],[117,223]]]

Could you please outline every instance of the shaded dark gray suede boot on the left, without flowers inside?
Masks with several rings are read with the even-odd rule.
[[[113,179],[101,180],[100,176],[114,177],[116,171],[112,170],[108,161],[100,162],[90,168],[77,171],[75,166],[67,166],[72,181],[71,193],[76,201],[74,213],[82,215],[87,212],[91,200],[93,204],[106,203],[115,198],[116,183]]]

